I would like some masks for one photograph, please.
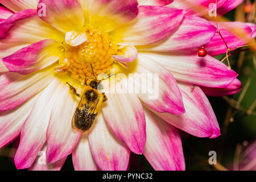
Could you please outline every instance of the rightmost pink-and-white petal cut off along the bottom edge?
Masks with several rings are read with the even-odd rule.
[[[147,109],[145,116],[147,140],[143,155],[148,162],[156,171],[184,170],[185,162],[179,131]]]

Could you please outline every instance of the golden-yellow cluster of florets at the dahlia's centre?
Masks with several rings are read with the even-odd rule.
[[[108,32],[86,26],[87,41],[79,46],[66,46],[63,59],[59,60],[58,73],[70,72],[72,78],[84,83],[85,78],[93,78],[92,68],[96,77],[100,73],[110,73],[114,59],[118,53],[117,44],[110,40]]]

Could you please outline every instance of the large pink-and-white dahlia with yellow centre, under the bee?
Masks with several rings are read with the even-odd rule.
[[[208,7],[214,1],[197,0]],[[143,154],[155,170],[184,170],[179,130],[216,138],[220,128],[208,96],[241,89],[237,73],[212,56],[226,52],[216,24],[183,1],[0,0],[0,148],[20,136],[18,169],[59,170],[72,154],[76,170],[126,170],[130,152]],[[241,1],[218,1],[225,14]],[[221,23],[230,47],[245,41],[225,24],[255,37],[255,25]],[[199,57],[205,46],[208,55]],[[91,129],[71,121],[85,78],[101,73],[154,73],[159,96],[106,93]],[[110,77],[102,81],[111,87]],[[154,81],[145,77],[147,82]],[[123,82],[115,84],[123,89]],[[143,88],[142,82],[135,85]],[[194,86],[193,86],[194,85]],[[193,86],[193,88],[191,88]],[[39,154],[45,152],[46,163]]]

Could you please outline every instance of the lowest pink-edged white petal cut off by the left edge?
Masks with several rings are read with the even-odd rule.
[[[37,99],[38,96],[35,96],[16,109],[0,112],[0,148],[19,136]]]

